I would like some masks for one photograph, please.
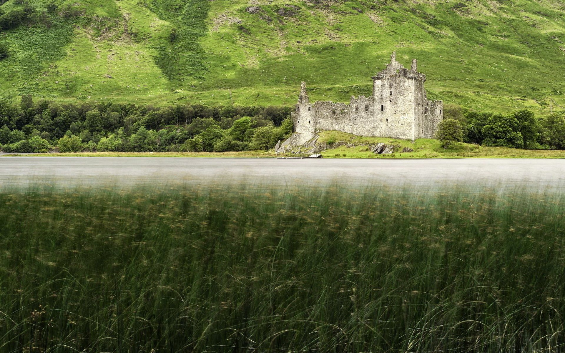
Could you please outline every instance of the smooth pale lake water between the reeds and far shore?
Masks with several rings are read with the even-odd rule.
[[[0,157],[0,186],[153,186],[241,183],[292,186],[565,186],[565,159],[266,159]]]

